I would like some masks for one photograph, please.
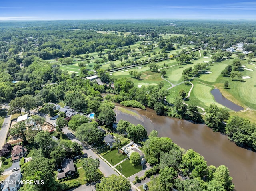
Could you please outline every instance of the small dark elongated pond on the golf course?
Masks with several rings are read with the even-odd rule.
[[[211,91],[212,95],[214,96],[214,99],[216,102],[218,102],[219,104],[222,104],[224,106],[226,106],[227,108],[230,108],[233,111],[240,111],[243,110],[244,108],[242,108],[241,106],[234,104],[232,101],[228,100],[227,98],[225,98],[219,89],[215,88]]]

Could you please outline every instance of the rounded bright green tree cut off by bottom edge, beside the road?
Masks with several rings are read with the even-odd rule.
[[[130,191],[130,182],[122,176],[110,175],[96,184],[96,191]]]

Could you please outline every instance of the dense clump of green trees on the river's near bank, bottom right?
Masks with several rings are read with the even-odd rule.
[[[150,177],[159,171],[159,176],[150,178],[152,191],[234,190],[226,166],[207,166],[203,156],[192,149],[181,149],[170,138],[157,137],[155,130],[150,133],[143,150],[147,162],[156,164],[145,175]]]

